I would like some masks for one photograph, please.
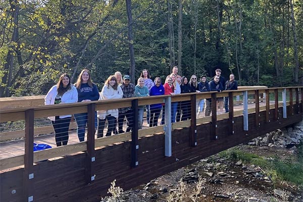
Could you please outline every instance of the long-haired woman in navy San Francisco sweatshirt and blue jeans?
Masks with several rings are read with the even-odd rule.
[[[96,84],[91,81],[90,73],[87,69],[81,71],[75,87],[78,90],[78,103],[96,101],[99,99],[99,92]],[[74,114],[78,128],[78,138],[84,141],[85,127],[87,123],[87,113]],[[95,130],[97,129],[97,113],[95,112]]]

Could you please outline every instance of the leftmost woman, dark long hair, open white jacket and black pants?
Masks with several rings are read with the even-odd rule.
[[[75,86],[71,85],[71,79],[68,74],[62,74],[57,85],[54,85],[47,92],[44,98],[45,105],[57,105],[77,103],[78,92]],[[48,117],[52,121],[55,130],[55,140],[57,146],[67,145],[69,134],[68,129],[72,115],[62,115]]]

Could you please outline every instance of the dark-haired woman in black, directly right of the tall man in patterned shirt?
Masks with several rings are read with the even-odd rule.
[[[195,92],[190,87],[190,85],[188,83],[188,78],[186,76],[183,76],[181,81],[182,81],[182,84],[180,85],[181,93]],[[181,102],[181,111],[182,111],[181,121],[189,120],[191,117],[190,101]]]

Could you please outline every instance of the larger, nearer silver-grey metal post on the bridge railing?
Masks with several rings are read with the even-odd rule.
[[[165,156],[172,156],[172,97],[166,97],[165,99]]]

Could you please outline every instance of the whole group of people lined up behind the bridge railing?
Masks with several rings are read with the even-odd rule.
[[[173,67],[172,73],[165,79],[164,84],[160,77],[156,77],[154,82],[150,79],[150,74],[147,69],[142,70],[140,77],[137,80],[137,85],[131,83],[129,75],[122,76],[121,72],[116,72],[109,76],[106,80],[102,91],[99,93],[97,86],[91,80],[91,75],[87,69],[83,69],[78,76],[77,82],[71,84],[71,79],[68,74],[62,74],[57,85],[54,85],[45,96],[45,105],[57,105],[77,102],[90,102],[94,100],[119,99],[127,97],[144,97],[155,95],[174,95],[190,92],[206,92],[222,90],[236,90],[237,81],[233,74],[230,74],[229,80],[221,76],[222,71],[216,70],[216,75],[213,80],[208,82],[206,75],[200,77],[198,82],[197,77],[192,75],[190,78],[178,75],[178,67]],[[189,79],[188,79],[189,78]],[[218,107],[223,111],[223,97],[217,99]],[[205,105],[206,104],[206,105]],[[211,114],[211,99],[201,99],[197,102],[197,113],[201,113],[205,107],[205,116]],[[228,112],[228,97],[225,97],[224,102],[225,112]],[[165,105],[152,104],[139,106],[138,108],[138,128],[143,125],[143,112],[146,111],[147,124],[150,127],[158,125],[158,120],[162,112],[161,124],[165,124]],[[104,136],[105,123],[108,122],[106,136],[119,133],[124,133],[123,123],[126,119],[129,132],[133,128],[133,110],[130,107],[100,110],[95,112],[95,130],[97,130],[97,138]],[[69,125],[72,115],[48,117],[52,121],[55,130],[55,139],[57,146],[66,145],[69,139]],[[87,123],[87,113],[74,114],[77,122],[77,134],[79,141],[84,141],[85,127]],[[171,103],[171,121],[184,121],[191,118],[190,101]],[[118,125],[118,129],[117,129]]]

